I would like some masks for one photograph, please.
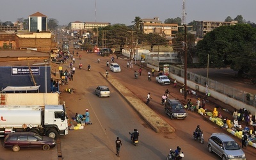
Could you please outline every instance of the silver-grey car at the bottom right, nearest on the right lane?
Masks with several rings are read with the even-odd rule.
[[[212,133],[208,140],[208,151],[215,152],[223,160],[246,159],[241,147],[223,132]]]

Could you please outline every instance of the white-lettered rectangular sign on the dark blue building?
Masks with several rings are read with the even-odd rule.
[[[39,67],[30,67],[33,76],[40,76]],[[27,76],[30,75],[29,67],[12,67],[12,76]]]

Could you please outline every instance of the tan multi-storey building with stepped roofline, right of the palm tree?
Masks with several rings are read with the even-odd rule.
[[[164,24],[158,17],[153,19],[141,19],[141,29],[143,33],[157,33],[161,36],[176,36],[178,24]]]

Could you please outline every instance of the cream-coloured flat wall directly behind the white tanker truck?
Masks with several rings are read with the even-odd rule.
[[[46,95],[46,96],[45,96]],[[6,105],[60,104],[58,93],[6,93]]]

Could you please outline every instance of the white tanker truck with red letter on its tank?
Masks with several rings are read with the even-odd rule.
[[[0,136],[10,132],[35,132],[51,138],[68,134],[65,105],[0,106]]]

